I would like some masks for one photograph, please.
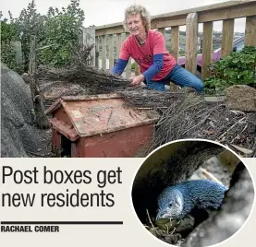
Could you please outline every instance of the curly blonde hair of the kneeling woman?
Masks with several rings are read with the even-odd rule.
[[[128,30],[128,22],[127,22],[128,16],[130,15],[135,16],[139,14],[143,24],[145,25],[146,31],[151,29],[151,16],[148,10],[144,6],[133,5],[126,8],[126,11],[125,11],[125,20],[123,21],[123,25],[126,30]]]

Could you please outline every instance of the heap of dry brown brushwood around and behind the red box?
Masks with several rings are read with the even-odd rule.
[[[46,108],[61,96],[115,92],[133,107],[159,112],[161,118],[152,143],[140,150],[139,157],[167,142],[185,138],[214,140],[242,157],[256,157],[256,113],[230,110],[226,101],[209,102],[189,88],[177,92],[133,88],[128,80],[92,67],[41,66],[38,77]]]

